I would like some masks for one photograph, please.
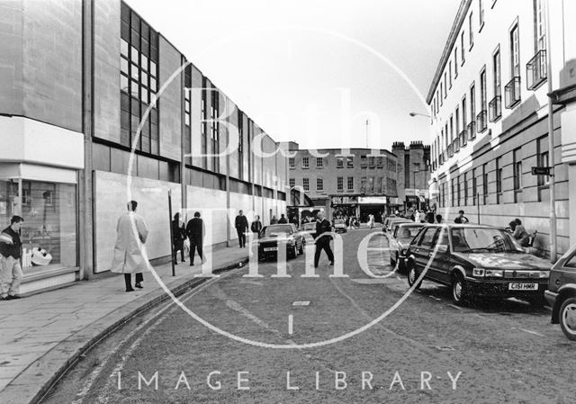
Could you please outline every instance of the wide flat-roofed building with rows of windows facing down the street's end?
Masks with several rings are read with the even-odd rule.
[[[398,159],[390,151],[290,146],[290,187],[302,190],[329,217],[356,215],[366,221],[372,213],[380,220],[383,213],[397,208]]]

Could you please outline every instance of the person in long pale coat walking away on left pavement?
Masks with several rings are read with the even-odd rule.
[[[131,274],[136,274],[136,286],[142,289],[144,276],[148,271],[148,261],[144,244],[148,238],[148,228],[144,219],[136,214],[138,202],[128,202],[128,211],[121,215],[116,225],[116,244],[112,256],[111,271],[116,274],[124,274],[126,292],[133,292]],[[133,227],[136,227],[136,233]]]

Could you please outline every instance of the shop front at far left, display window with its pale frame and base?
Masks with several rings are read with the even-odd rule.
[[[21,293],[78,279],[77,175],[27,164],[0,164],[0,230],[24,220]]]

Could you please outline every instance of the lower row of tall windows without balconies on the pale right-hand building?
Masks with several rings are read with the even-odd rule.
[[[522,149],[515,148],[512,150],[512,177],[513,177],[513,188],[514,191],[514,202],[518,202],[518,194],[522,192]],[[537,166],[548,166],[550,164],[550,155],[547,150],[547,138],[543,136],[542,138],[536,139],[536,158]],[[496,158],[496,167],[494,169],[494,180],[496,184],[496,203],[503,202],[502,200],[502,157]],[[479,173],[479,171],[482,171]],[[478,175],[482,175],[482,189],[478,187],[477,178]],[[472,192],[473,205],[476,203],[486,204],[488,199],[488,164],[482,165],[482,170],[480,167],[473,168],[471,171],[465,172],[461,175],[452,178],[450,182],[450,199],[448,199],[448,184],[440,184],[439,189],[439,204],[441,207],[447,207],[451,205],[452,207],[460,207],[468,205],[469,192]],[[472,181],[472,184],[470,182]],[[548,175],[538,175],[537,185],[547,186],[550,182],[550,177]],[[472,185],[472,186],[471,186]],[[480,201],[478,199],[480,198]]]

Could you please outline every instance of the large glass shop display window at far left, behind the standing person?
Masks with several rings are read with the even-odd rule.
[[[77,265],[76,184],[0,180],[0,227],[24,218],[24,272]]]

